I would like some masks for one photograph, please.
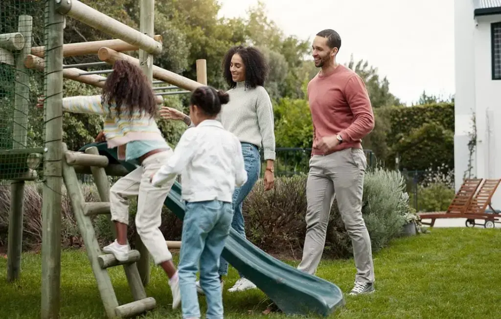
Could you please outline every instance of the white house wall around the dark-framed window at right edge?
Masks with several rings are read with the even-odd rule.
[[[474,32],[475,115],[477,128],[476,176],[501,178],[501,80],[492,80],[490,24],[501,22],[501,15],[477,17]],[[457,91],[457,89],[456,89]],[[487,123],[488,119],[488,123]],[[490,134],[488,132],[490,130]],[[501,208],[501,188],[492,198],[494,208]]]

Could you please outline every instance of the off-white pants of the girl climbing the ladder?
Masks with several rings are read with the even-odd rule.
[[[174,180],[162,187],[150,184],[150,176],[167,163],[172,150],[147,157],[140,167],[120,178],[110,190],[111,220],[129,224],[129,197],[137,196],[136,229],[155,264],[172,259],[165,238],[158,227],[162,206]]]

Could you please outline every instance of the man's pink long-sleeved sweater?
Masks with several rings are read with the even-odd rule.
[[[317,74],[308,83],[308,101],[313,120],[313,144],[322,137],[340,134],[343,143],[329,152],[362,148],[362,138],[374,128],[374,113],[362,79],[338,65],[327,75]],[[313,148],[313,155],[327,155]]]

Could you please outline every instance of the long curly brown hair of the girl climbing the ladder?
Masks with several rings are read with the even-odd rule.
[[[126,113],[130,119],[134,111],[154,117],[157,111],[155,94],[144,72],[136,65],[118,60],[113,72],[106,78],[101,96],[102,103],[115,105],[117,117]]]

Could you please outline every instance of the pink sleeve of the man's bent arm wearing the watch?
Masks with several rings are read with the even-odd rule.
[[[365,84],[358,75],[348,80],[345,96],[353,113],[353,122],[339,135],[344,141],[361,140],[374,129],[374,113]]]

